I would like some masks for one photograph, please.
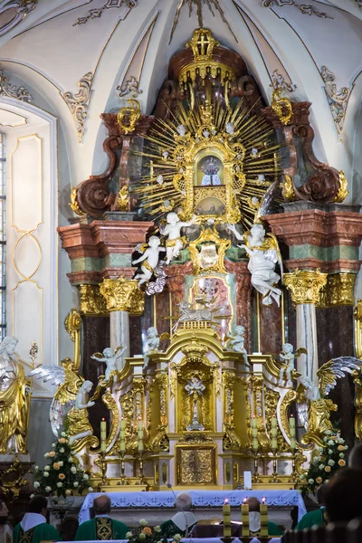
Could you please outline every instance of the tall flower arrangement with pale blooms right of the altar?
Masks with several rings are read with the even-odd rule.
[[[326,432],[323,438],[323,446],[317,447],[317,454],[310,462],[307,473],[300,475],[303,486],[300,490],[303,494],[314,494],[323,482],[328,482],[331,475],[339,468],[347,464],[348,446],[339,432]]]

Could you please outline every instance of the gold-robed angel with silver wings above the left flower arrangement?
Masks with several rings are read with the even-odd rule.
[[[94,402],[86,398],[93,384],[90,381],[84,381],[84,377],[77,371],[71,358],[65,358],[61,364],[62,366],[36,367],[29,376],[43,379],[44,383],[51,381],[52,385],[58,386],[49,412],[52,433],[59,436],[67,415],[70,443],[73,443],[93,433],[88,421],[87,408],[94,405]]]

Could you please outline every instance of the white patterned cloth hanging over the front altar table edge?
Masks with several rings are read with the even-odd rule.
[[[187,493],[190,494],[195,507],[217,507],[220,509],[226,498],[231,506],[240,506],[244,498],[255,496],[261,501],[262,497],[265,497],[266,504],[269,506],[297,506],[298,520],[307,512],[299,491],[187,491]],[[107,495],[110,497],[112,509],[173,508],[175,506],[175,498],[170,491],[110,492]],[[85,497],[79,514],[80,524],[90,519],[90,508],[97,496],[100,494],[90,492]]]

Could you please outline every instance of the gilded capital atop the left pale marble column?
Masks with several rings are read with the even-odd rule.
[[[127,279],[105,279],[100,283],[100,294],[110,311],[128,311],[130,315],[142,315],[145,310],[145,294],[138,289],[138,281]]]

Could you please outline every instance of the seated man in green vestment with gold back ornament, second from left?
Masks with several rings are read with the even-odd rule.
[[[75,535],[74,541],[94,541],[95,539],[126,539],[129,531],[119,520],[110,519],[110,498],[100,495],[93,501],[95,518],[83,522]]]

